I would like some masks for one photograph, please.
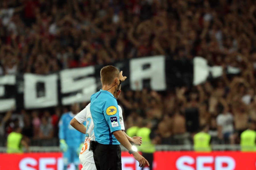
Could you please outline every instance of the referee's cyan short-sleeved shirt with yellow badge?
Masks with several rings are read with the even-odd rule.
[[[116,98],[106,90],[91,95],[90,111],[94,123],[95,141],[104,145],[119,145],[114,131],[121,130]]]

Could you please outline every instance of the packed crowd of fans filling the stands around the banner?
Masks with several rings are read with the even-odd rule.
[[[253,0],[3,0],[0,20],[0,75],[48,74],[159,54],[175,60],[202,56],[209,65],[221,65],[221,78],[196,87],[122,91],[126,128],[147,119],[157,144],[189,142],[185,139],[197,129],[188,121],[196,122],[197,115],[198,126],[209,124],[216,143],[239,143],[248,121],[256,121]],[[241,73],[228,76],[227,66]],[[51,139],[67,111],[22,110],[16,116],[9,111],[1,119],[1,134],[19,123],[24,135]]]

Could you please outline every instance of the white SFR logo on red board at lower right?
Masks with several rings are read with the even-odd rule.
[[[195,165],[194,165],[195,164]],[[181,156],[176,161],[178,170],[234,170],[235,160],[230,156]]]

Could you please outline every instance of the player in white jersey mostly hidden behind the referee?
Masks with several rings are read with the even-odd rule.
[[[121,88],[121,86],[119,88]],[[120,92],[121,90],[118,90],[118,92],[114,94],[115,95],[114,97],[118,98],[120,95]],[[118,105],[118,111],[119,111],[119,123],[120,123],[121,129],[123,130],[123,133],[125,133],[122,109],[119,105]],[[86,121],[86,127],[84,127],[82,124],[84,121]],[[82,164],[82,170],[96,170],[96,166],[93,159],[93,152],[89,151],[90,138],[93,137],[95,139],[94,124],[93,124],[92,115],[90,112],[90,103],[71,120],[70,124],[75,129],[85,134],[84,145],[82,146],[82,149],[79,154],[80,163]],[[136,136],[129,137],[126,133],[125,133],[125,136],[134,145],[140,146],[142,143],[141,137],[136,137]]]

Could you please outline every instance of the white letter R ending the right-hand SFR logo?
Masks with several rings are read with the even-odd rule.
[[[226,163],[228,166],[222,167],[223,163]],[[236,161],[230,156],[217,156],[215,158],[215,170],[234,170],[235,167]]]

